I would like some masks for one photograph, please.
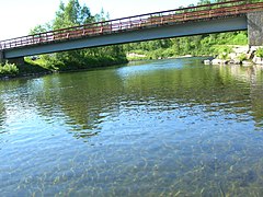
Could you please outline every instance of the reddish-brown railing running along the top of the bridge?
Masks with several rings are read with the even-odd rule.
[[[263,2],[247,3],[247,0],[232,0],[220,3],[188,7],[163,12],[155,12],[130,18],[90,23],[0,42],[0,49],[43,45],[82,37],[116,34],[140,28],[172,25],[190,21],[213,20],[237,16],[248,12],[263,10]]]

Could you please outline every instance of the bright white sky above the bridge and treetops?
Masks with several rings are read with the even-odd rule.
[[[68,0],[62,0],[65,3]],[[111,19],[176,9],[198,0],[79,0],[94,15],[102,8]],[[55,18],[60,0],[0,0],[0,40],[25,36],[38,24]]]

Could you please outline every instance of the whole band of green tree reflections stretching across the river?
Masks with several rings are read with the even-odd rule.
[[[136,107],[132,102],[146,106],[148,102],[155,106],[202,105],[205,111],[225,113],[243,113],[241,109],[245,108],[252,111],[258,123],[263,119],[262,72],[256,72],[255,85],[251,85],[250,81],[239,83],[233,68],[203,67],[188,60],[162,62],[157,67],[142,65],[45,77],[34,96],[38,112],[50,121],[61,116],[77,138],[98,135],[101,123],[117,117],[121,107]],[[247,71],[236,69],[241,72],[237,76],[243,78]]]

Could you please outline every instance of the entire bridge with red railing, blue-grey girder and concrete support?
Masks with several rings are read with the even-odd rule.
[[[242,30],[249,31],[251,46],[263,45],[263,2],[230,0],[1,40],[0,62],[80,48]]]

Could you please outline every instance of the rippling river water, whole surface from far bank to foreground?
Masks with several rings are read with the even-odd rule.
[[[262,196],[263,69],[146,61],[0,82],[0,196]]]

